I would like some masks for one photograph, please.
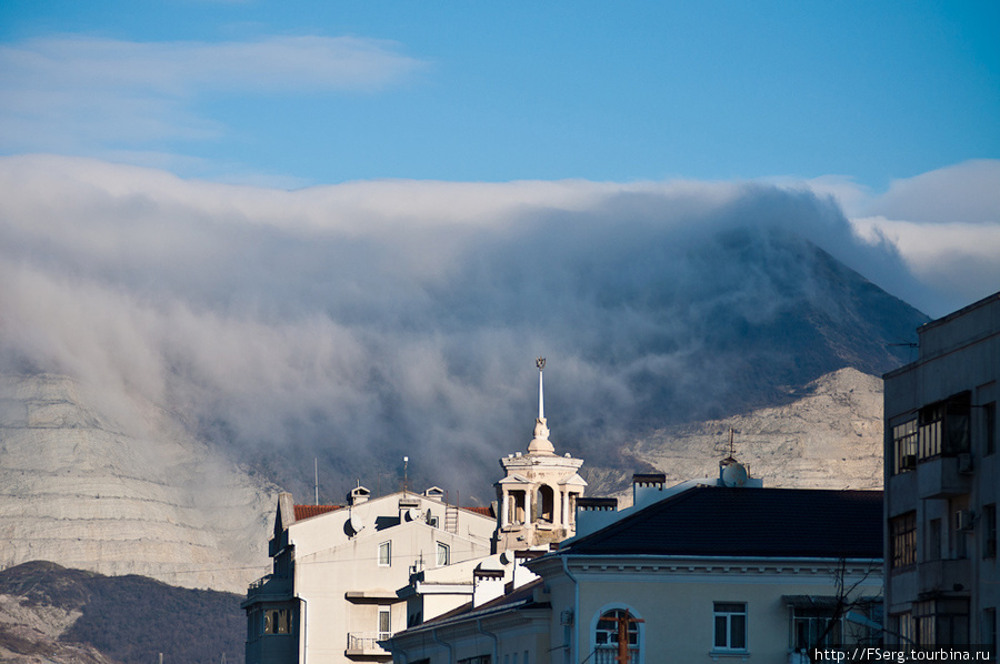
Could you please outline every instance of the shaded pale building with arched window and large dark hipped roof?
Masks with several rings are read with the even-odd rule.
[[[784,663],[808,661],[801,651],[821,640],[826,645],[870,644],[880,637],[882,561],[877,553],[867,555],[879,549],[879,492],[716,483],[642,489],[644,506],[592,537],[581,535],[566,550],[528,561],[539,581],[398,633],[391,642],[393,662],[611,664],[622,643],[631,664]],[[748,502],[752,506],[739,514],[743,526],[723,525],[731,539],[716,537],[709,515],[732,504],[733,496],[739,501],[753,492],[766,500]],[[654,501],[656,494],[663,499]],[[771,509],[789,501],[796,510]],[[804,537],[822,531],[814,522],[800,529],[800,520],[814,516],[809,509],[837,514],[830,523],[836,532],[817,537],[820,550],[798,536],[800,530]],[[671,510],[683,512],[679,521],[667,517]],[[692,546],[707,547],[704,554],[677,553],[687,546],[690,531],[667,532],[670,524],[690,523],[691,515],[702,516],[696,520],[693,527],[702,531]],[[856,526],[857,536],[844,549],[843,534]],[[770,546],[769,537],[740,544],[743,534],[758,529],[778,542],[770,555],[740,551]],[[593,537],[622,552],[594,553]],[[644,540],[656,542],[647,546]],[[666,543],[660,554],[659,542]],[[633,547],[636,553],[627,552]],[[626,640],[619,640],[619,628]]]

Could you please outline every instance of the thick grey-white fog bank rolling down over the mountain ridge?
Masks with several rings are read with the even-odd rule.
[[[2,162],[0,356],[131,394],[292,490],[489,501],[544,355],[559,453],[909,360],[927,319],[831,200],[753,183],[360,182],[294,192]],[[846,266],[847,262],[851,268]],[[587,466],[584,466],[587,467]]]

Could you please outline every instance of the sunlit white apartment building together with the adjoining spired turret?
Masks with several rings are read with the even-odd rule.
[[[251,584],[247,664],[388,662],[380,642],[467,603],[481,604],[534,575],[523,562],[572,535],[586,482],[582,460],[549,441],[538,359],[539,414],[527,453],[500,461],[494,510],[447,504],[438,487],[346,505],[296,505],[279,495],[273,571]]]

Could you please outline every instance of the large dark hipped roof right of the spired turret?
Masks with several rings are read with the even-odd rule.
[[[697,486],[560,553],[880,559],[882,492]]]

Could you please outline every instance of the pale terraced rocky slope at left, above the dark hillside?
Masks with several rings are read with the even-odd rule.
[[[0,565],[244,592],[267,571],[273,487],[140,405],[117,422],[67,376],[0,376]]]

